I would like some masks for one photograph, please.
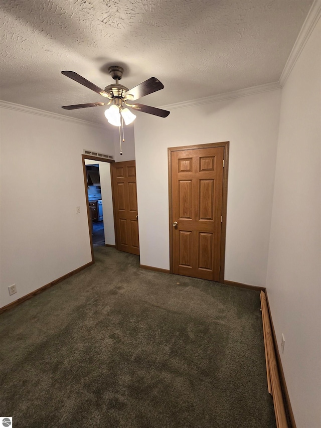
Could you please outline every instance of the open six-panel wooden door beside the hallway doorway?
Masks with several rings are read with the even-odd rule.
[[[139,255],[135,161],[111,165],[116,248]]]

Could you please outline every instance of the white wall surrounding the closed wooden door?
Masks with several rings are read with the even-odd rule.
[[[135,123],[140,263],[169,269],[168,147],[230,141],[225,279],[265,286],[280,90]]]

